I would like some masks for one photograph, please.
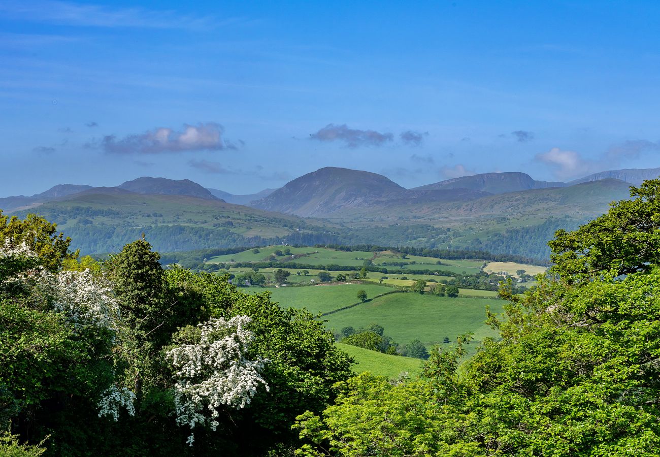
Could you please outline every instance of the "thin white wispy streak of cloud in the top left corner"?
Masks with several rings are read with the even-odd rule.
[[[217,26],[212,17],[182,15],[176,11],[154,11],[141,7],[112,8],[106,5],[74,3],[69,1],[35,0],[0,2],[0,13],[5,17],[84,27],[139,27],[139,28],[209,28]],[[225,22],[230,22],[225,21]]]

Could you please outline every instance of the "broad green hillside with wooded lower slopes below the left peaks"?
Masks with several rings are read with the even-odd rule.
[[[154,248],[172,252],[267,244],[281,238],[314,244],[329,230],[318,221],[185,195],[83,193],[16,215],[28,213],[57,223],[73,239],[72,247],[85,254],[115,252],[142,232]]]

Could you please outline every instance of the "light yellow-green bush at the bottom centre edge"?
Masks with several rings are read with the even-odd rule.
[[[475,419],[438,402],[424,381],[392,383],[360,374],[341,384],[323,415],[298,417],[306,444],[298,456],[485,456],[474,440]]]

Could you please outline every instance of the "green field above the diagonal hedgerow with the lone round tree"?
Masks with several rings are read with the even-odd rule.
[[[247,293],[271,292],[271,300],[281,306],[307,308],[310,312],[323,313],[358,302],[358,291],[367,293],[368,299],[393,291],[391,287],[371,284],[316,285],[303,287],[249,287]],[[362,306],[362,305],[360,305]]]

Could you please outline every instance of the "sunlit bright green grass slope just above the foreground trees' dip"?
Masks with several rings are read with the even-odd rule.
[[[397,378],[399,373],[407,371],[410,378],[414,379],[422,372],[422,361],[420,359],[382,354],[343,343],[335,344],[339,349],[355,358],[356,364],[352,366],[355,374],[368,371],[378,376]]]

